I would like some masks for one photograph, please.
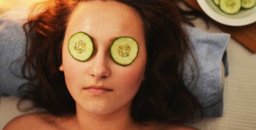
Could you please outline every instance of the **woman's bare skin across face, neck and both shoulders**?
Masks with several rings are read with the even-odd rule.
[[[86,62],[79,62],[68,52],[70,36],[79,31],[94,39],[94,53]],[[129,66],[116,64],[109,55],[112,40],[121,36],[130,36],[139,44],[139,54]],[[14,118],[4,129],[193,129],[156,123],[141,126],[133,122],[131,102],[143,80],[146,59],[142,21],[133,8],[115,1],[81,2],[70,15],[59,68],[76,101],[77,114],[62,117],[29,114]],[[83,90],[93,84],[104,85],[113,91],[94,96]]]

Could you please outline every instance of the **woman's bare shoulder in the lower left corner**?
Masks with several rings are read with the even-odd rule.
[[[40,129],[51,127],[49,123],[45,122],[43,119],[44,117],[48,117],[48,115],[43,112],[21,115],[15,117],[9,123],[7,123],[3,130]]]

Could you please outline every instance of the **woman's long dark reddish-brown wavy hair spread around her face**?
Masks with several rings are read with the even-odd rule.
[[[41,3],[33,10],[42,7],[39,8],[41,12],[31,12],[23,24],[27,46],[22,76],[29,82],[19,88],[22,93],[19,103],[30,99],[34,107],[45,108],[56,116],[76,114],[75,101],[67,90],[59,66],[68,18],[82,1],[86,0]],[[145,80],[132,100],[132,119],[141,124],[183,124],[202,117],[198,100],[182,79],[185,61],[191,51],[177,3],[169,0],[116,1],[137,10],[146,38]]]

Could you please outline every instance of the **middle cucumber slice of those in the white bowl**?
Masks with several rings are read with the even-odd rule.
[[[220,9],[227,14],[235,14],[241,8],[241,0],[220,0]]]

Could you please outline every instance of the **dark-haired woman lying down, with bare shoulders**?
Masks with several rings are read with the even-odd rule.
[[[30,82],[21,90],[23,99],[47,112],[17,117],[4,129],[194,129],[182,126],[201,107],[182,80],[189,45],[174,2],[55,0],[42,5],[43,11],[23,25],[28,41],[22,72]],[[93,42],[85,62],[69,50],[77,32]],[[117,64],[109,53],[120,37],[137,41],[130,65]]]

